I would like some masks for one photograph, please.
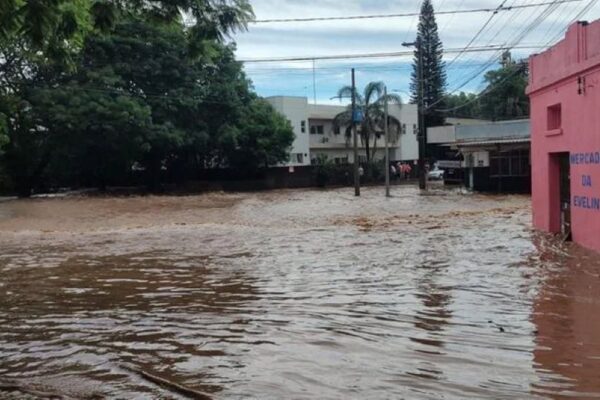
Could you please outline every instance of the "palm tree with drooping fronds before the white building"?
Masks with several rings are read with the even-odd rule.
[[[366,147],[367,162],[375,157],[377,151],[377,139],[384,135],[385,124],[385,84],[383,82],[370,82],[363,91],[363,94],[356,93],[356,110],[361,111],[363,120],[358,124],[360,140]],[[352,97],[352,86],[344,86],[338,91],[337,96],[342,98]],[[388,94],[387,101],[390,105],[402,107],[402,98],[396,94]],[[400,121],[392,116],[388,117],[392,142],[396,142],[400,135]],[[333,119],[334,130],[337,132],[340,128],[345,128],[346,139],[352,135],[352,105],[348,109]],[[392,129],[395,128],[395,129]],[[373,139],[373,149],[371,152],[371,139]]]

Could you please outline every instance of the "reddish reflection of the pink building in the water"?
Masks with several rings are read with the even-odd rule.
[[[600,398],[600,257],[539,237],[545,279],[534,303],[533,393],[555,399]]]

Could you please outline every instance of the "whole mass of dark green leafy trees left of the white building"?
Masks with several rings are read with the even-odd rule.
[[[21,196],[43,186],[140,182],[140,173],[157,188],[166,175],[186,179],[204,168],[255,170],[287,160],[289,122],[256,97],[234,46],[222,42],[251,14],[245,0],[119,4],[56,2],[71,65],[56,62],[61,56],[51,46],[36,50],[33,32],[19,31],[0,48],[0,116],[10,116],[0,118],[0,168]],[[181,10],[204,31],[186,29]],[[78,21],[90,13],[105,30],[89,28],[76,45]],[[57,32],[53,18],[44,29]],[[194,35],[206,46],[190,46],[200,37]]]

